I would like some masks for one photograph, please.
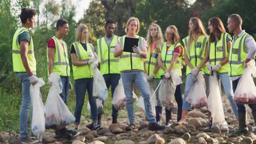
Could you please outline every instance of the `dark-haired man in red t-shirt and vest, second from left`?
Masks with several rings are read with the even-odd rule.
[[[62,93],[60,94],[64,103],[67,102],[68,89],[72,89],[72,83],[69,80],[70,68],[68,61],[68,48],[62,38],[68,34],[68,21],[60,19],[56,23],[57,32],[53,38],[48,41],[47,45],[47,61],[48,61],[48,75],[55,72],[61,77]],[[51,83],[49,83],[51,85]],[[72,131],[67,130],[65,127],[56,130],[57,137],[72,136]]]

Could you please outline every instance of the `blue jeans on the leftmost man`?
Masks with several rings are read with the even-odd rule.
[[[27,134],[27,122],[28,112],[31,107],[31,122],[32,122],[32,106],[30,98],[30,79],[27,73],[17,73],[19,79],[22,82],[22,104],[20,109],[20,138],[26,139]]]

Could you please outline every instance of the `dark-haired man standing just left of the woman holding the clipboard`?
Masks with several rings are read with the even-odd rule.
[[[100,59],[100,71],[104,77],[107,88],[111,86],[112,98],[115,87],[118,85],[120,79],[119,57],[114,57],[115,43],[117,43],[118,36],[114,35],[115,22],[107,20],[105,25],[105,36],[97,39],[97,55]],[[104,102],[104,101],[103,101]],[[117,123],[118,110],[112,105],[112,123]],[[98,123],[101,123],[101,113],[98,114]]]

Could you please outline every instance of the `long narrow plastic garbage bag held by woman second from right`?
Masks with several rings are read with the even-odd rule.
[[[225,121],[222,98],[219,91],[217,72],[213,72],[210,83],[210,95],[208,97],[208,110],[212,113],[212,127],[219,127],[220,130],[228,128]]]

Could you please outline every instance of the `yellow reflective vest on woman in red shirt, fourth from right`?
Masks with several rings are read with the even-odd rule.
[[[174,55],[174,49],[178,46],[181,46],[181,44],[180,43],[172,44],[169,47],[168,51],[166,51],[167,43],[162,43],[162,45],[161,45],[161,60],[162,60],[162,63],[165,65],[165,67],[167,69],[170,68],[172,58],[173,58],[173,55]],[[172,70],[178,70],[179,76],[182,76],[181,61],[179,61],[179,60],[180,59],[178,58],[177,62],[174,65]],[[162,75],[164,75],[164,74],[165,74],[165,71],[162,70]]]

